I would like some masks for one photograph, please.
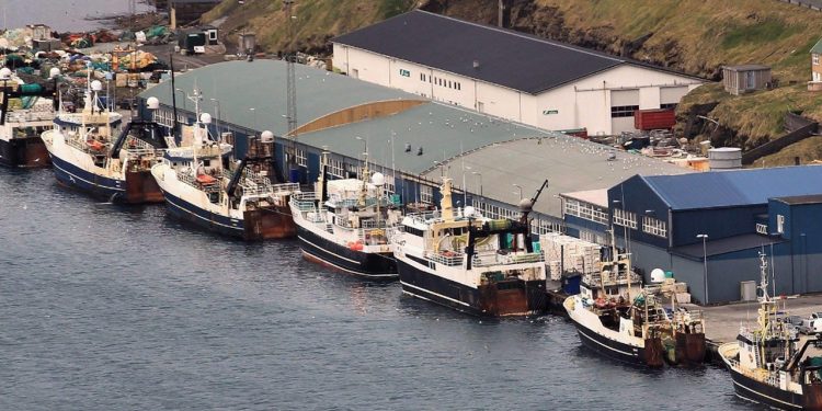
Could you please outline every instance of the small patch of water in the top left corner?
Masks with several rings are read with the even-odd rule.
[[[103,27],[98,19],[128,13],[128,0],[0,0],[3,27],[42,23],[58,32]],[[153,10],[146,1],[136,2],[137,12]]]

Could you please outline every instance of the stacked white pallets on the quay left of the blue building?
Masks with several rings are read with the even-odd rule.
[[[545,264],[552,281],[598,272],[601,246],[549,232],[539,236]]]

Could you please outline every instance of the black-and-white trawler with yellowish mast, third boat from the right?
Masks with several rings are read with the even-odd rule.
[[[452,180],[443,178],[439,209],[408,214],[395,235],[402,292],[477,316],[539,313],[547,308],[545,259],[533,249],[528,213],[491,219],[473,207],[455,210]]]

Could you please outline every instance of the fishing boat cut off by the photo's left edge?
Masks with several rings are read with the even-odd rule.
[[[56,70],[56,71],[54,71]],[[36,168],[50,164],[41,135],[53,128],[54,89],[59,69],[53,69],[54,84],[25,83],[0,69],[0,165]]]

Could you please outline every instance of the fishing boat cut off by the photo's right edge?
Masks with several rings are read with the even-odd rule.
[[[780,410],[822,410],[822,356],[818,336],[799,339],[767,293],[767,261],[760,254],[756,327],[741,327],[737,341],[719,346],[738,397]],[[817,354],[817,355],[813,355]]]

